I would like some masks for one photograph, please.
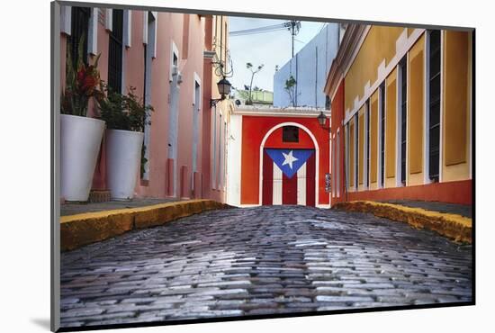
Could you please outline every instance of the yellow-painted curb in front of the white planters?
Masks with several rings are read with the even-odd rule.
[[[62,216],[60,248],[67,251],[121,235],[132,229],[154,227],[202,211],[228,207],[221,202],[203,199]]]

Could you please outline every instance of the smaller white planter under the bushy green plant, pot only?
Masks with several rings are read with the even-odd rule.
[[[106,176],[114,200],[134,197],[143,139],[143,132],[106,130]]]

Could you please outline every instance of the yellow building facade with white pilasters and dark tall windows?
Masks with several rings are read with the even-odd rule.
[[[473,32],[349,24],[330,68],[332,202],[471,204]]]

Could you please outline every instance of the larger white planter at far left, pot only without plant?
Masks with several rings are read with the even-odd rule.
[[[103,138],[104,121],[60,114],[60,195],[85,202]]]

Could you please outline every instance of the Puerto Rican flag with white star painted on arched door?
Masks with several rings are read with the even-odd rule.
[[[265,148],[263,204],[315,205],[315,150]]]

